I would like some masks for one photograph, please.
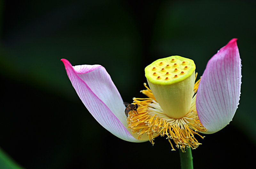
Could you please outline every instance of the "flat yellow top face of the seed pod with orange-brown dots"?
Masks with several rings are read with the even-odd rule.
[[[170,56],[163,59],[158,59],[145,68],[145,76],[151,83],[158,85],[170,85],[188,78],[196,69],[193,60],[181,57]],[[168,72],[168,81],[165,78],[156,78],[157,76],[164,77]],[[184,72],[184,73],[181,73]],[[156,73],[156,74],[154,74]],[[175,75],[178,75],[175,77]]]

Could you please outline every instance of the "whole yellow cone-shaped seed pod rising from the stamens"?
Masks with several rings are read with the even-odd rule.
[[[162,65],[159,64],[161,62]],[[169,68],[166,67],[168,64]],[[155,71],[152,70],[154,67]],[[195,69],[193,60],[181,56],[158,59],[145,68],[148,85],[167,116],[179,119],[188,114],[193,97]],[[155,72],[157,76],[153,75]]]

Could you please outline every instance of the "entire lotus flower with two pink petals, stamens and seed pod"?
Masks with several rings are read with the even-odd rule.
[[[180,56],[156,60],[145,68],[147,98],[133,98],[138,109],[125,116],[123,100],[104,67],[72,66],[62,59],[68,78],[92,116],[115,136],[130,142],[167,136],[183,152],[197,148],[199,132],[211,134],[224,128],[239,104],[241,59],[237,39],[222,47],[207,63],[195,83],[193,60]],[[197,93],[196,93],[197,92]],[[134,106],[135,107],[135,106]],[[202,137],[203,138],[203,137]]]

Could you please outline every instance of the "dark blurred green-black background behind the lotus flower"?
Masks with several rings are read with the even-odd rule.
[[[132,102],[156,59],[207,61],[232,38],[242,59],[233,121],[198,140],[195,168],[255,163],[255,1],[0,1],[0,146],[25,168],[179,168],[163,137],[130,143],[105,130],[76,95],[64,65],[100,64]]]

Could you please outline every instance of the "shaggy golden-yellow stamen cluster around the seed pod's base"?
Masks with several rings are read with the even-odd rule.
[[[194,94],[197,91],[199,81],[195,83]],[[170,142],[172,150],[175,149],[171,140],[183,152],[185,152],[186,147],[197,148],[201,143],[198,143],[194,136],[202,137],[198,132],[204,132],[206,129],[198,119],[195,105],[196,95],[193,97],[188,114],[180,119],[173,119],[164,113],[145,83],[144,86],[147,90],[142,90],[141,92],[148,96],[148,98],[133,98],[134,102],[140,105],[137,109],[138,114],[134,112],[129,113],[127,118],[128,128],[132,130],[132,133],[138,133],[139,137],[143,134],[147,135],[153,145],[156,134],[161,137],[167,136],[166,139]]]

